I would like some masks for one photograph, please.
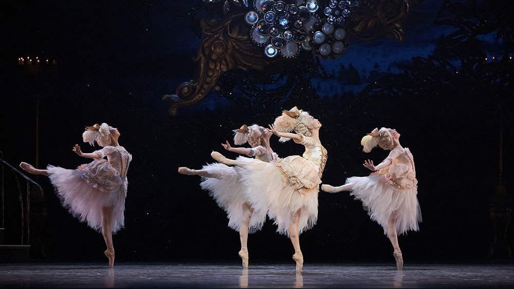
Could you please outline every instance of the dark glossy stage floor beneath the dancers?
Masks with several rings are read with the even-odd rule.
[[[100,263],[0,264],[0,287],[512,287],[513,262],[467,264],[306,263]]]

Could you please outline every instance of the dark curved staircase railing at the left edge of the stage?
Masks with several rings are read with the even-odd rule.
[[[38,189],[40,191],[40,196],[42,197],[43,196],[43,188],[36,182],[32,181],[29,177],[25,176],[24,174],[22,174],[21,171],[17,170],[15,167],[11,166],[10,164],[8,164],[7,162],[4,161],[4,153],[2,151],[0,151],[0,182],[2,183],[2,185],[0,186],[0,202],[2,202],[2,227],[5,227],[5,205],[4,205],[4,193],[5,193],[5,188],[4,188],[4,167],[7,167],[9,168],[11,171],[12,171],[12,175],[14,177],[14,181],[16,183],[16,188],[18,190],[18,196],[19,196],[19,200],[20,200],[20,221],[21,221],[21,237],[20,237],[20,241],[21,241],[21,244],[24,245],[24,244],[29,244],[30,242],[30,192],[31,192],[31,185],[32,187],[35,187],[36,189]],[[23,200],[23,192],[22,192],[22,186],[21,186],[21,183],[20,183],[20,178],[19,177],[22,177],[23,179],[26,180],[27,182],[27,191],[26,191],[26,200],[24,202]],[[25,204],[25,206],[24,206]],[[25,228],[26,228],[26,231],[27,233],[25,234]],[[26,238],[25,238],[26,237]]]

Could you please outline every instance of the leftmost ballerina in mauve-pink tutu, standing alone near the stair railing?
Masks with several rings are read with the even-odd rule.
[[[71,215],[102,233],[107,245],[104,254],[109,259],[109,267],[114,266],[113,233],[124,225],[123,211],[128,185],[126,174],[132,160],[132,155],[119,145],[119,136],[118,129],[106,123],[86,127],[82,134],[84,142],[94,145],[96,141],[103,148],[83,153],[76,144],[72,150],[77,155],[94,159],[77,169],[52,165],[48,165],[47,169],[36,169],[24,162],[20,164],[30,174],[49,177],[61,203]]]

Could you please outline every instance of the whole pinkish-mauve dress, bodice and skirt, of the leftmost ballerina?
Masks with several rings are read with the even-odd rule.
[[[102,207],[113,207],[112,231],[124,225],[126,171],[132,156],[123,147],[106,146],[95,151],[105,159],[77,169],[47,166],[50,182],[69,213],[97,232],[102,228]]]

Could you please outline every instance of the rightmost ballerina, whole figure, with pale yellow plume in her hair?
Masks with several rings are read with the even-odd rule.
[[[393,256],[398,269],[403,267],[398,235],[408,230],[419,230],[421,210],[417,200],[417,180],[414,159],[408,148],[399,142],[400,134],[395,129],[375,128],[362,138],[364,152],[373,147],[391,150],[389,156],[375,166],[373,161],[364,161],[363,166],[374,171],[369,177],[351,177],[345,185],[333,187],[322,185],[326,192],[352,191],[355,199],[362,201],[371,219],[384,229],[394,248]]]

